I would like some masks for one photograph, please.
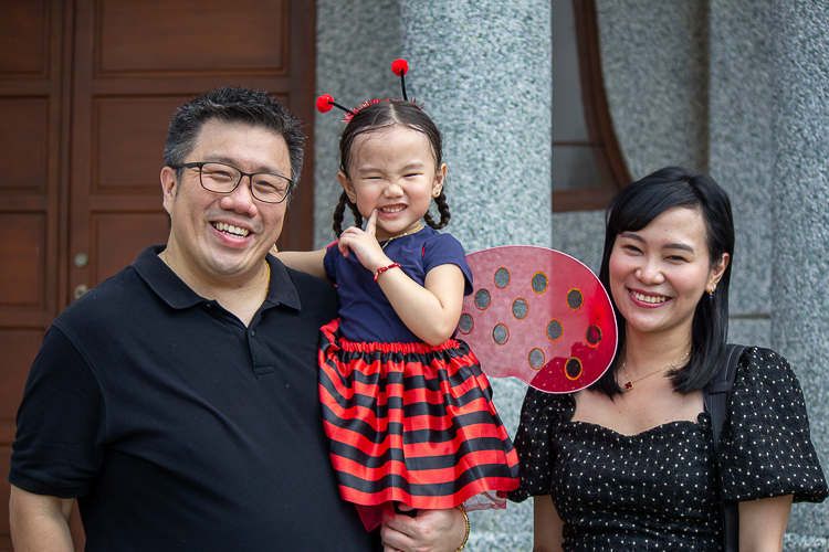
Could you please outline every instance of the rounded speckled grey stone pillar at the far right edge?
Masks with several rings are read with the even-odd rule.
[[[775,0],[772,343],[804,388],[829,469],[829,3]],[[795,505],[791,550],[827,550],[829,505]],[[796,546],[796,548],[795,548]],[[817,548],[815,548],[817,546]]]

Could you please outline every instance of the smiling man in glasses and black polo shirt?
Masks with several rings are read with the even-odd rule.
[[[13,445],[17,550],[379,550],[338,495],[317,400],[334,289],[267,255],[302,166],[300,124],[220,88],[175,115],[166,246],[75,301],[48,332]],[[457,510],[402,514],[385,550],[455,550]]]

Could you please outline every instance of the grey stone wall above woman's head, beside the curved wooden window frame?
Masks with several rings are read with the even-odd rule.
[[[596,0],[601,74],[633,180],[707,168],[707,20],[697,0]]]

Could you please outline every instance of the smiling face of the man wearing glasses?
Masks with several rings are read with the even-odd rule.
[[[185,162],[218,161],[244,172],[291,178],[285,139],[260,126],[210,120]],[[161,171],[164,208],[170,215],[168,251],[175,269],[208,284],[243,283],[262,269],[262,259],[282,232],[287,201],[263,203],[251,195],[248,177],[231,193],[201,187],[198,169]]]

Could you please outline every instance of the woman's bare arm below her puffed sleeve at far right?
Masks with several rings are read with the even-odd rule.
[[[783,534],[789,522],[791,495],[739,502],[739,550],[763,552],[783,550]]]

